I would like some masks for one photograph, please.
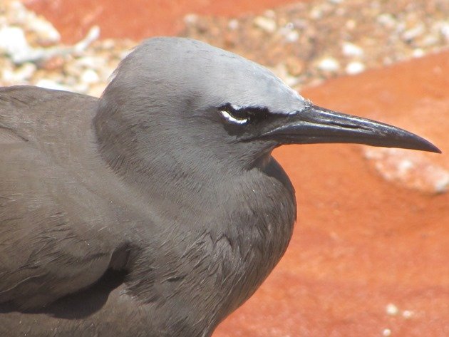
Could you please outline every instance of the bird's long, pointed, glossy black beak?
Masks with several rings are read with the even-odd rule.
[[[316,105],[308,105],[282,120],[282,124],[267,130],[262,138],[275,139],[282,144],[351,142],[441,152],[432,143],[406,130]]]

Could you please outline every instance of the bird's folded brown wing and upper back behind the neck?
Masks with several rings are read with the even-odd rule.
[[[97,99],[0,88],[0,304],[31,309],[95,283],[120,251],[90,182]],[[123,247],[123,246],[122,246]]]

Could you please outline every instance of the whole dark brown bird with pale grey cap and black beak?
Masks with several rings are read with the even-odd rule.
[[[100,98],[0,88],[0,336],[212,336],[291,238],[272,150],[330,142],[440,152],[190,38],[143,41]]]

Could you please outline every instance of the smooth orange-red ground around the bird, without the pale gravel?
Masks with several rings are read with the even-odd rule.
[[[143,0],[100,2],[78,0],[72,9],[68,0],[26,1],[66,42],[98,23],[103,37],[170,35],[187,12],[236,15],[291,1],[153,1],[157,13]],[[448,169],[448,78],[446,52],[302,94],[430,138],[443,155],[428,157]],[[214,336],[449,336],[449,194],[386,182],[358,145],[289,146],[275,155],[296,187],[299,223],[273,274]],[[396,316],[386,313],[390,303]]]

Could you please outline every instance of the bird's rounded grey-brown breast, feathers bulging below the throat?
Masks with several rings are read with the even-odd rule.
[[[155,304],[154,314],[164,312],[173,325],[200,321],[201,331],[267,278],[287,249],[296,216],[293,188],[276,162],[214,188],[152,231],[153,243],[136,256],[128,278],[130,294]]]

